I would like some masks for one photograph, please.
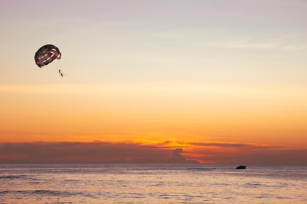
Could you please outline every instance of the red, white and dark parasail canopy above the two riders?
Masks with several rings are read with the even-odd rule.
[[[42,68],[48,65],[55,59],[61,59],[60,50],[54,45],[44,45],[35,52],[35,63],[38,67]]]

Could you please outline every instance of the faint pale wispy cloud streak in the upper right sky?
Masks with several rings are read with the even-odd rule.
[[[304,50],[307,49],[306,33],[299,34],[279,33],[232,33],[231,31],[211,30],[208,34],[203,30],[161,31],[150,34],[160,42],[168,42],[178,45],[192,45],[221,48],[248,48],[248,49],[280,49],[280,50]],[[222,32],[229,33],[221,35]]]

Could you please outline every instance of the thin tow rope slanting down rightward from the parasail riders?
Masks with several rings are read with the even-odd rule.
[[[60,72],[60,71],[61,71],[61,72]],[[121,108],[127,110],[127,111],[130,112],[130,113],[133,113],[134,115],[136,115],[136,116],[142,118],[143,120],[146,120],[147,122],[149,122],[149,123],[155,125],[156,127],[158,127],[158,128],[160,128],[160,129],[162,129],[162,130],[168,132],[169,134],[174,135],[174,134],[171,133],[169,130],[163,128],[162,126],[160,126],[160,125],[158,125],[158,124],[156,124],[156,123],[154,123],[153,121],[147,119],[146,117],[143,117],[142,115],[140,115],[140,114],[138,114],[138,113],[136,113],[136,112],[134,112],[134,111],[128,109],[127,107],[121,105],[120,103],[118,103],[118,102],[116,102],[116,101],[114,101],[114,100],[112,100],[112,99],[106,97],[106,96],[103,95],[102,93],[100,93],[100,92],[98,92],[98,91],[95,91],[95,90],[93,90],[92,88],[86,86],[85,84],[83,84],[83,83],[77,81],[76,79],[74,79],[74,78],[68,76],[67,74],[64,74],[63,71],[62,71],[61,69],[59,70],[59,73],[61,74],[62,77],[63,77],[63,75],[64,75],[64,76],[67,76],[68,78],[70,78],[71,80],[73,80],[73,81],[77,82],[78,84],[82,85],[82,86],[85,87],[86,89],[88,89],[88,90],[90,90],[90,91],[92,91],[92,92],[94,92],[94,93],[96,93],[96,94],[102,96],[103,98],[107,99],[108,101],[111,101],[112,103],[116,104],[117,106],[119,106],[119,107],[121,107]]]

